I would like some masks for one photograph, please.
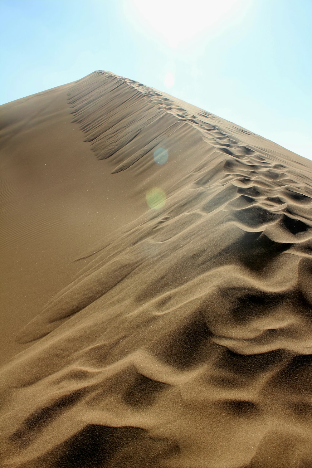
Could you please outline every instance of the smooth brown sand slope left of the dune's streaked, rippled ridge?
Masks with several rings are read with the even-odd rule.
[[[1,359],[16,331],[68,285],[103,236],[146,211],[131,177],[94,160],[68,105],[72,85],[1,106]],[[87,264],[87,263],[86,263]]]

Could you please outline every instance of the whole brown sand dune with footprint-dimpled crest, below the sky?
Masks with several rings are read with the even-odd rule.
[[[312,163],[107,72],[3,115],[3,466],[311,467]]]

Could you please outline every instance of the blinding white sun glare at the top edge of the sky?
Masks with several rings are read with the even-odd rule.
[[[241,0],[193,0],[183,6],[174,0],[133,0],[125,1],[124,6],[136,22],[140,20],[145,28],[151,28],[175,48],[218,27],[225,19],[232,19],[241,3]]]

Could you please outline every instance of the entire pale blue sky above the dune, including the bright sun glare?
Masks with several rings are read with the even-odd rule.
[[[107,70],[312,160],[312,0],[0,0],[0,104]]]

